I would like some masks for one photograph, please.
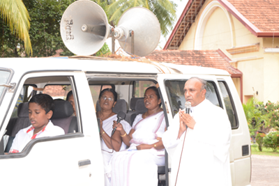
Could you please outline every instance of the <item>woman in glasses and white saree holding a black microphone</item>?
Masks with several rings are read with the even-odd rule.
[[[100,111],[98,111],[97,118],[100,118],[100,138],[101,148],[103,154],[104,171],[105,171],[105,185],[110,185],[110,178],[107,173],[110,173],[109,163],[112,155],[116,151],[126,149],[126,144],[121,140],[120,132],[116,131],[112,135],[113,123],[117,121],[117,114],[112,111],[112,107],[116,104],[117,93],[112,88],[106,88],[100,92],[99,102]],[[130,132],[130,124],[127,121],[121,121],[126,132]]]

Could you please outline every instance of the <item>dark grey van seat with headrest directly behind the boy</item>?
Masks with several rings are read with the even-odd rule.
[[[65,134],[77,132],[77,117],[73,116],[72,104],[65,100],[56,100],[54,106],[52,123],[63,128]]]

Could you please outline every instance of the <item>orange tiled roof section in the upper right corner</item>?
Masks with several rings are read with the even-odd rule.
[[[227,1],[260,31],[279,31],[279,0]]]

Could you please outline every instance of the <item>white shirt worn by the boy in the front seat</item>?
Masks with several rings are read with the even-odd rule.
[[[23,150],[23,148],[28,144],[29,141],[31,141],[31,137],[33,137],[34,130],[31,130],[27,133],[27,130],[32,127],[32,125],[29,125],[26,128],[23,128],[17,134],[15,135],[15,139],[13,139],[13,144],[10,147],[11,150],[18,150],[19,153]],[[45,131],[38,132],[36,138],[39,137],[53,137],[58,135],[65,134],[64,130],[56,125],[53,125],[52,121],[49,121],[47,123],[47,126],[45,127]]]

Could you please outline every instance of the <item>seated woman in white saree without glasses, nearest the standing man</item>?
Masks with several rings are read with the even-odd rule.
[[[144,106],[146,113],[135,118],[130,133],[123,130],[121,123],[113,127],[120,132],[122,141],[130,146],[115,153],[111,160],[111,185],[158,185],[158,165],[165,165],[165,149],[162,135],[166,130],[161,100],[156,87],[146,89]]]

